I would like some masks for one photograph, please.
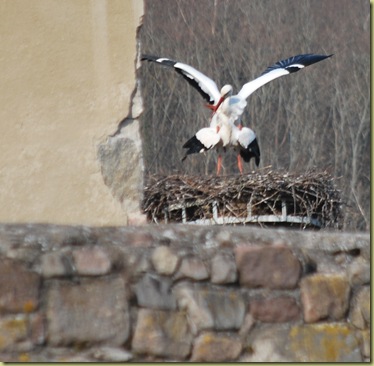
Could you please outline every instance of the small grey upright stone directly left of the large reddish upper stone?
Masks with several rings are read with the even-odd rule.
[[[212,259],[212,282],[217,284],[234,283],[238,273],[235,259],[229,254],[218,253]]]

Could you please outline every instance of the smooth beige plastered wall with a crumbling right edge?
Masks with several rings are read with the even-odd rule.
[[[139,0],[0,0],[0,221],[126,224],[97,146],[128,114]]]

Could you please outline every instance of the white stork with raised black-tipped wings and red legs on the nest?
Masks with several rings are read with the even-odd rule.
[[[322,61],[331,55],[302,54],[276,62],[269,66],[259,77],[244,84],[239,93],[232,95],[233,88],[226,84],[221,91],[217,84],[196,70],[192,66],[151,55],[143,55],[142,61],[152,61],[164,66],[173,67],[181,74],[208,102],[213,110],[213,117],[209,128],[199,130],[195,136],[188,140],[183,147],[187,148],[184,156],[204,152],[213,148],[223,148],[230,144],[239,148],[238,167],[243,172],[240,156],[244,161],[255,158],[256,165],[260,162],[260,149],[255,133],[247,127],[242,127],[240,119],[247,106],[246,99],[258,88],[281,76],[288,75],[303,69],[306,66]],[[221,155],[218,156],[217,175],[221,169]]]

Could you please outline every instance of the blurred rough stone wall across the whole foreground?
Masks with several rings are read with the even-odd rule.
[[[367,361],[369,234],[0,225],[2,361]]]

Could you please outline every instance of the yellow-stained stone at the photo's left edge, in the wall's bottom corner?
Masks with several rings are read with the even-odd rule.
[[[0,317],[0,351],[18,350],[19,343],[26,340],[28,323],[25,315]]]

